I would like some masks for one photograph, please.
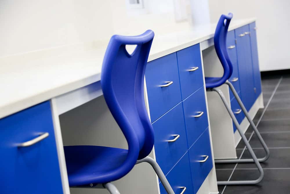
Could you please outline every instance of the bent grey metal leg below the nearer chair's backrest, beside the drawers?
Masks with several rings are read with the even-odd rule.
[[[161,170],[160,166],[157,164],[157,162],[153,158],[147,156],[146,158],[143,158],[141,160],[137,160],[136,164],[140,164],[142,162],[149,163],[152,166],[152,168],[154,169],[154,171],[157,174],[157,176],[159,177],[159,179],[160,179],[162,185],[164,186],[166,192],[168,194],[174,194],[174,191],[173,191],[172,187],[170,186],[168,180],[166,179],[164,173],[162,172],[162,170]]]

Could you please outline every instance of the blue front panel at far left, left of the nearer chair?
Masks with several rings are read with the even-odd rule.
[[[42,141],[18,148],[19,143]],[[0,119],[0,193],[62,193],[57,148],[49,102]]]

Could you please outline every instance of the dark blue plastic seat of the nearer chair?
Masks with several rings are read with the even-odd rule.
[[[64,146],[70,186],[114,181],[114,170],[121,166],[128,150],[104,146]]]

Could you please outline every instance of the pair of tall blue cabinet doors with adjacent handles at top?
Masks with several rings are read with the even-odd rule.
[[[249,111],[255,102],[254,73],[249,25],[235,30],[242,101]]]

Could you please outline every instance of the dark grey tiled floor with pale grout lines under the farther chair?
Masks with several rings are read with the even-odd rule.
[[[276,89],[276,90],[275,90]],[[260,109],[254,118],[258,130],[270,149],[270,157],[261,163],[264,179],[256,185],[218,186],[221,194],[288,194],[290,193],[290,75],[274,75],[262,78],[265,110]],[[247,138],[257,157],[265,152],[253,129],[248,128]],[[236,148],[237,156],[250,158],[245,144]],[[255,164],[216,164],[218,181],[253,180],[259,177]]]

